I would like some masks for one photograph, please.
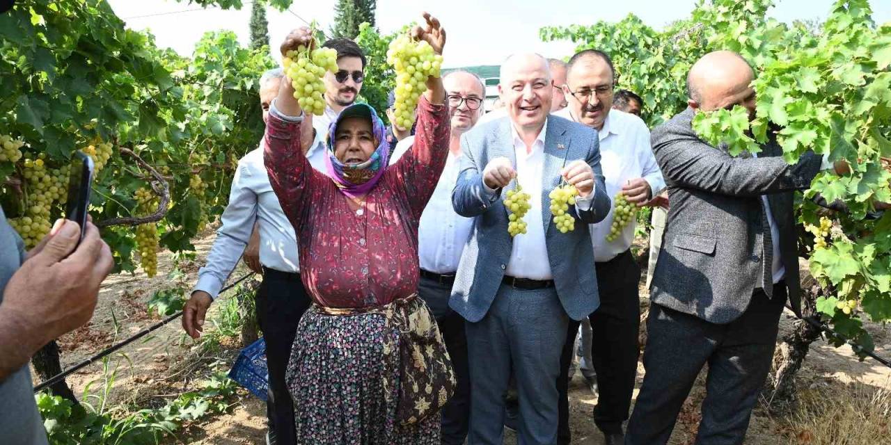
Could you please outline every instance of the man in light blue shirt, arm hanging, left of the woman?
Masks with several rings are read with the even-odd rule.
[[[261,78],[260,102],[263,120],[269,104],[278,93],[282,69],[266,72]],[[323,134],[312,131],[312,119],[306,119],[301,147],[310,164],[325,171]],[[257,320],[266,339],[266,365],[269,370],[269,399],[267,440],[294,444],[294,407],[285,384],[285,368],[290,358],[291,344],[297,333],[298,322],[310,304],[309,296],[300,281],[297,259],[297,237],[276,198],[266,167],[263,165],[263,141],[238,162],[229,194],[229,204],[220,217],[222,226],[217,240],[210,248],[207,264],[198,271],[198,283],[186,303],[183,328],[197,338],[204,324],[210,303],[219,294],[229,274],[248,244],[257,223],[259,231],[259,263],[263,268],[263,283],[257,291]]]

